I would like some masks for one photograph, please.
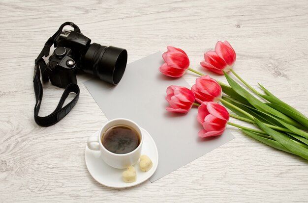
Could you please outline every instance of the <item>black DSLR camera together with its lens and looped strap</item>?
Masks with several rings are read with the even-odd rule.
[[[74,30],[63,30],[70,25]],[[51,46],[56,48],[48,63],[43,57],[49,55]],[[88,73],[99,79],[116,85],[120,82],[126,67],[127,51],[117,47],[106,47],[92,43],[91,39],[80,32],[72,22],[63,23],[58,31],[45,43],[34,63],[33,87],[35,93],[34,120],[40,126],[51,126],[64,118],[75,106],[79,98],[77,72]],[[44,82],[65,88],[56,109],[48,116],[39,116],[43,98]],[[65,106],[64,101],[70,93],[75,97]]]

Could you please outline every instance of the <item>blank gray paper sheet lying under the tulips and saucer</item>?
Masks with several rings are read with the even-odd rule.
[[[150,178],[151,182],[234,138],[228,130],[221,136],[199,138],[198,131],[202,126],[197,122],[195,107],[187,114],[165,110],[168,86],[190,86],[183,78],[161,74],[158,68],[162,63],[161,52],[157,52],[128,64],[116,86],[99,79],[84,82],[107,119],[131,119],[151,134],[159,154],[158,167]]]

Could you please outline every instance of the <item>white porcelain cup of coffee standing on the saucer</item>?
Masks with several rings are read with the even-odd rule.
[[[120,128],[117,128],[120,127]],[[121,131],[121,127],[126,127],[128,131]],[[119,129],[120,129],[120,135],[119,135]],[[112,131],[113,130],[113,131]],[[118,130],[118,132],[117,132]],[[109,138],[109,141],[119,141],[119,142],[126,142],[127,139],[123,139],[125,137],[125,134],[129,132],[129,130],[132,130],[137,136],[138,136],[138,145],[135,149],[133,149],[131,152],[126,153],[115,153],[111,152],[104,145],[104,136],[107,136]],[[133,132],[130,132],[130,135],[134,134]],[[108,134],[109,133],[109,134]],[[141,132],[140,127],[133,121],[128,119],[114,119],[109,122],[107,122],[99,131],[99,136],[96,142],[99,144],[99,149],[101,152],[102,159],[110,166],[118,169],[127,168],[129,166],[134,165],[140,158],[141,155],[141,148],[143,144],[143,134]],[[118,136],[118,137],[115,137]],[[121,137],[122,136],[122,137]],[[115,139],[114,139],[115,138]],[[90,138],[88,139],[88,147],[89,144],[91,146],[91,142],[89,143]],[[102,142],[103,141],[103,142]],[[135,140],[134,140],[135,141]],[[111,143],[112,144],[112,143]],[[114,143],[115,144],[115,143]],[[121,143],[120,143],[121,144]],[[122,143],[123,144],[123,143]],[[122,146],[121,144],[121,146]],[[91,147],[89,147],[91,149]],[[91,149],[92,150],[92,149]],[[124,151],[120,151],[124,152]]]

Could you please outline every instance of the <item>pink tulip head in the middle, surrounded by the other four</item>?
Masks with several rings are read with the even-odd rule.
[[[214,101],[218,102],[221,99],[222,90],[220,85],[210,76],[201,76],[196,79],[196,84],[191,87],[195,93],[196,101]]]

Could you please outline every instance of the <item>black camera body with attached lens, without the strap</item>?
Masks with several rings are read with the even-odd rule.
[[[63,30],[54,41],[55,50],[49,57],[48,77],[53,85],[65,88],[77,84],[76,73],[84,72],[111,84],[118,84],[124,74],[127,51],[92,43],[80,32]],[[48,80],[47,76],[43,80]]]

